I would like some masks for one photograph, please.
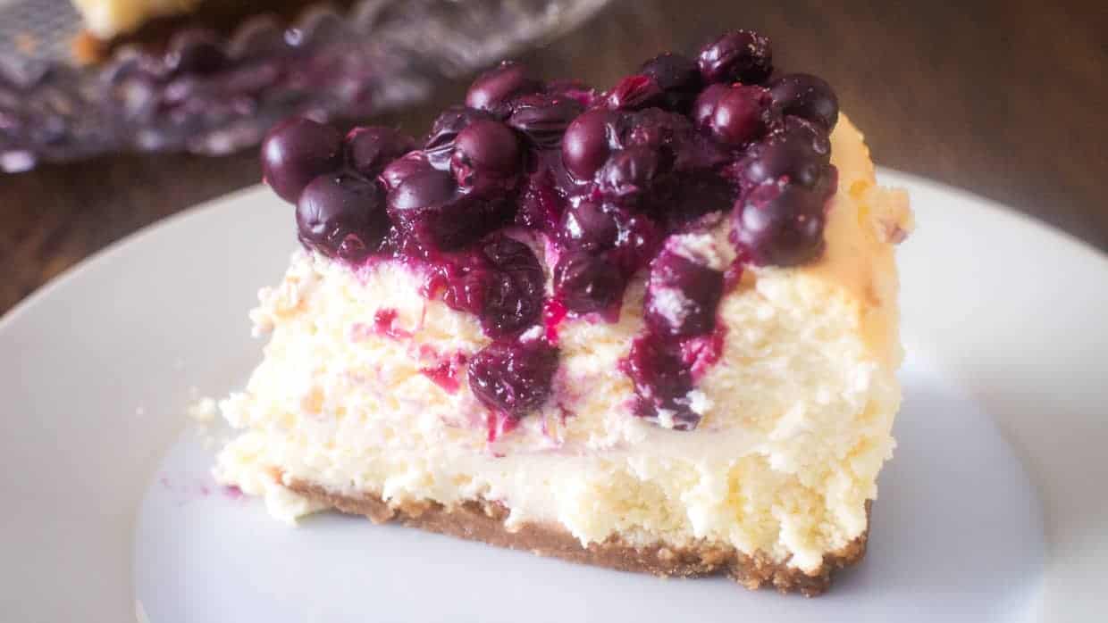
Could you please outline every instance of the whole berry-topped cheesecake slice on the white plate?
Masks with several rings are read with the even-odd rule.
[[[765,38],[607,92],[504,63],[422,144],[293,120],[263,165],[304,250],[252,312],[218,480],[288,521],[804,594],[862,555],[911,212]]]

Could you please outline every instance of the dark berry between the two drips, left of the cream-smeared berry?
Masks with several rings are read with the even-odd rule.
[[[598,312],[623,300],[627,279],[607,253],[565,251],[554,267],[554,291],[570,311]]]

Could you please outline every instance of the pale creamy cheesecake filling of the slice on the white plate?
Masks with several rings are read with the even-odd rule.
[[[353,271],[297,252],[252,312],[270,339],[246,390],[220,404],[244,433],[220,454],[217,478],[265,496],[287,520],[315,510],[285,487],[294,481],[397,505],[482,498],[510,509],[510,529],[562,527],[583,544],[614,533],[705,540],[817,570],[864,532],[894,446],[892,243],[911,228],[904,195],[875,185],[858,131],[843,118],[831,138],[840,178],[827,252],[799,268],[750,269],[725,297],[722,356],[690,396],[702,415],[695,430],[630,413],[619,361],[643,328],[642,277],[618,322],[560,326],[551,401],[490,440],[489,412],[458,365],[489,342],[475,318],[423,298],[423,274],[403,263]],[[681,243],[729,263],[728,227]],[[456,387],[442,374],[451,362]]]

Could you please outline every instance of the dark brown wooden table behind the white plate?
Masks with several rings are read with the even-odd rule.
[[[543,75],[609,85],[659,50],[694,52],[727,28],[760,30],[778,66],[837,87],[878,163],[968,188],[1108,250],[1106,4],[897,4],[616,0],[522,59]],[[433,101],[384,121],[421,134],[463,89],[444,84]],[[253,152],[0,174],[0,313],[112,241],[258,178]],[[291,228],[290,214],[290,239]]]

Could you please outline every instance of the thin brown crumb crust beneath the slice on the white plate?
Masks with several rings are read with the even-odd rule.
[[[719,543],[705,542],[688,548],[671,548],[665,544],[634,547],[622,542],[618,538],[611,538],[603,543],[591,543],[585,548],[561,527],[527,523],[520,530],[510,532],[504,528],[507,509],[500,502],[471,500],[454,508],[423,502],[394,508],[369,494],[360,497],[341,496],[300,481],[294,481],[289,488],[342,512],[363,515],[375,523],[394,521],[471,541],[526,550],[538,555],[619,571],[678,578],[727,575],[748,589],[772,585],[782,593],[799,592],[804,596],[822,594],[831,585],[831,578],[835,571],[861,560],[865,554],[865,542],[869,537],[866,527],[866,531],[845,548],[825,554],[820,570],[809,575],[760,554],[747,555],[731,546]],[[866,501],[868,518],[871,505],[871,501]]]

